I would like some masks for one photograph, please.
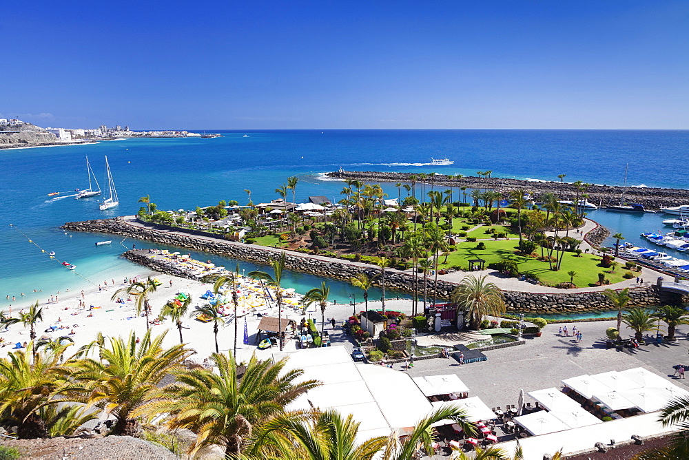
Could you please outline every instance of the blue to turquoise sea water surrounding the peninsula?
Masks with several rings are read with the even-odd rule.
[[[246,204],[278,198],[275,189],[289,176],[298,176],[298,202],[325,195],[340,200],[344,184],[322,180],[321,174],[340,167],[368,171],[435,171],[533,180],[583,180],[621,185],[629,165],[628,185],[686,188],[689,131],[577,130],[343,130],[226,131],[220,138],[127,139],[94,145],[0,150],[0,302],[6,295],[17,302],[43,299],[56,291],[81,289],[103,280],[136,273],[138,267],[119,255],[134,241],[113,236],[70,233],[65,222],[136,213],[138,198],[150,195],[158,209],[194,209],[219,200]],[[245,134],[247,137],[244,137]],[[108,157],[120,205],[99,211],[103,197],[74,200],[76,188],[88,187],[85,156],[104,189],[104,156]],[[450,158],[454,165],[433,167],[433,158]],[[400,189],[383,184],[389,198]],[[59,191],[59,196],[48,194]],[[70,192],[71,191],[71,192]],[[404,190],[402,190],[404,196]],[[289,197],[291,198],[291,196]],[[655,231],[662,215],[595,211],[613,231],[628,240],[641,231]],[[10,225],[12,224],[12,225]],[[32,240],[34,244],[30,243]],[[95,242],[113,240],[110,246]],[[120,244],[121,243],[121,244]],[[37,247],[38,245],[38,247]],[[152,244],[140,242],[138,247]],[[46,253],[41,252],[42,248]],[[51,260],[48,252],[55,251]],[[689,257],[689,256],[688,256]],[[216,260],[205,254],[198,258]],[[59,261],[77,266],[65,269]],[[234,266],[232,260],[220,260]],[[242,262],[249,271],[254,265]],[[318,286],[321,278],[290,273],[286,284],[298,292]],[[360,291],[345,282],[330,281],[334,299],[349,301]],[[34,293],[34,289],[40,291]],[[25,297],[20,297],[25,293]],[[371,297],[379,296],[371,292]],[[398,293],[391,293],[392,296]],[[20,302],[21,301],[21,302]],[[0,308],[4,308],[0,303]]]

